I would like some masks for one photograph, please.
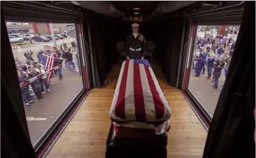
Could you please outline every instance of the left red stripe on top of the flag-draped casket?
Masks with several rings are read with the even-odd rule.
[[[127,72],[129,67],[129,60],[126,60],[124,65],[124,72],[122,73],[122,80],[119,88],[119,94],[115,107],[116,117],[126,119],[126,110],[125,110],[125,97],[126,97],[126,82],[127,82]]]

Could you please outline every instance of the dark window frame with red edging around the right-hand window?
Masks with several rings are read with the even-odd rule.
[[[195,109],[198,118],[203,126],[208,130],[211,122],[211,115],[189,90],[189,77],[192,64],[192,56],[195,46],[195,37],[197,35],[198,25],[241,25],[244,6],[230,7],[228,9],[208,12],[207,14],[198,14],[187,17],[186,39],[184,42],[184,54],[182,56],[181,78],[179,88],[186,97],[192,108]],[[191,36],[192,35],[192,36]],[[184,64],[184,65],[183,65]]]

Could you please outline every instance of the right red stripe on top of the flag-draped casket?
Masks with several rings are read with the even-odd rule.
[[[145,71],[148,78],[148,85],[150,86],[150,90],[152,93],[153,101],[155,104],[155,113],[156,113],[156,119],[161,119],[164,115],[164,104],[161,100],[158,91],[156,90],[155,83],[153,81],[153,78],[151,77],[150,70],[147,65],[144,65]]]

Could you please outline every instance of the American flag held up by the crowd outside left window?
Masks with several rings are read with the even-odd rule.
[[[38,55],[38,61],[45,66],[46,70],[53,69],[54,60],[55,60],[55,57]],[[48,75],[47,75],[48,82],[51,81],[51,78],[53,78],[53,72],[48,73]]]

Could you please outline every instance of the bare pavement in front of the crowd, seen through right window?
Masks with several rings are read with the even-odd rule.
[[[202,71],[203,72],[203,71]],[[189,90],[195,96],[197,101],[207,110],[207,112],[213,116],[218,99],[220,97],[221,90],[225,82],[224,69],[221,71],[221,77],[219,78],[218,89],[211,88],[211,80],[207,80],[208,72],[205,67],[205,74],[201,74],[200,77],[195,77],[194,70],[190,71],[189,78]]]

